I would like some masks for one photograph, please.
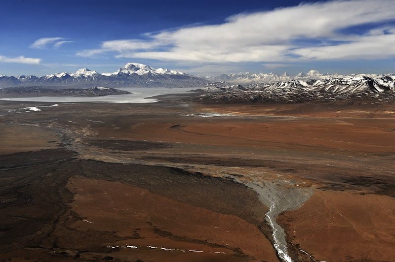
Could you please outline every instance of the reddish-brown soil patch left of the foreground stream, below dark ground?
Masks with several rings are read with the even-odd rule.
[[[119,248],[115,254],[111,253],[112,257],[129,256],[142,261],[244,261],[245,256],[277,260],[271,243],[262,232],[236,216],[181,203],[118,182],[72,178],[67,187],[75,194],[71,207],[86,220],[76,222],[73,228],[112,231],[123,238],[113,243],[98,242],[99,245],[138,247]],[[175,250],[157,248],[153,252],[148,246]]]

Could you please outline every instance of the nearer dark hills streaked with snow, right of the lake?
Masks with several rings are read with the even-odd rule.
[[[309,72],[316,76],[316,72]],[[196,90],[207,93],[198,100],[232,102],[310,100],[331,101],[370,96],[379,100],[395,99],[395,74],[332,76],[321,79],[261,82],[240,86],[205,88]]]

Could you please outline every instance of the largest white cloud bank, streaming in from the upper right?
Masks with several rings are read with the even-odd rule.
[[[118,58],[198,63],[293,62],[325,59],[376,59],[395,56],[394,0],[335,0],[302,3],[272,11],[242,13],[219,25],[191,26],[146,39],[104,41],[79,56],[111,53]],[[370,32],[345,32],[369,25]],[[300,42],[303,42],[301,44]]]

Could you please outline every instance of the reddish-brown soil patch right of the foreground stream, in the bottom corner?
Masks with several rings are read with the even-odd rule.
[[[322,261],[393,261],[395,199],[317,191],[277,222],[293,245]]]

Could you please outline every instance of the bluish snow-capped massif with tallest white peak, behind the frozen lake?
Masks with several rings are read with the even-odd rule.
[[[0,87],[53,86],[53,87],[193,87],[208,80],[167,68],[128,63],[114,73],[98,73],[81,68],[75,73],[59,72],[45,76],[0,76]]]

